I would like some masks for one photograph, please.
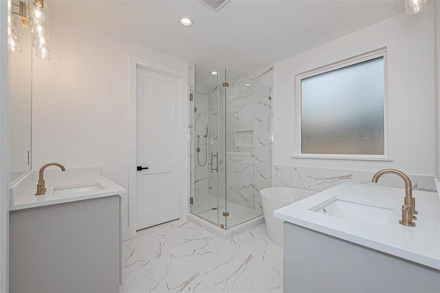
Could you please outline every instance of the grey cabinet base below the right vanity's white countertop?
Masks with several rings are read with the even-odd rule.
[[[440,292],[440,271],[284,223],[284,292]]]

